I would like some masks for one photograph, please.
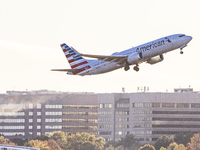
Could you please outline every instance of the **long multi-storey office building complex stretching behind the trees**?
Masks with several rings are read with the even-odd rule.
[[[134,134],[153,144],[161,135],[200,132],[200,93],[9,92],[0,95],[0,134],[31,139],[53,131],[119,140]]]

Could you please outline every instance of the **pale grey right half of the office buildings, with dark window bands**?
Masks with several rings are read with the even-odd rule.
[[[153,144],[163,134],[200,132],[200,93],[101,94],[98,103],[98,134],[106,141],[134,134]]]

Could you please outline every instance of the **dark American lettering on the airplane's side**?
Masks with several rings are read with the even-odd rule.
[[[159,46],[164,45],[164,44],[165,44],[165,41],[164,41],[164,40],[156,41],[156,42],[152,42],[151,44],[148,44],[148,45],[146,45],[146,46],[138,47],[138,48],[136,49],[136,51],[137,51],[137,52],[147,51],[147,50],[150,50],[150,49],[159,47]]]

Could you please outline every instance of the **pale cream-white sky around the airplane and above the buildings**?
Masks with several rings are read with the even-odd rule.
[[[55,90],[113,93],[200,91],[199,0],[0,0],[0,93]],[[172,34],[193,40],[140,71],[119,69],[70,76],[60,48],[67,43],[86,54],[110,55]]]

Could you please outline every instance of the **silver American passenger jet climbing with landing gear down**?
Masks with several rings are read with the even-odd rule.
[[[80,54],[73,47],[61,44],[61,48],[71,66],[71,69],[52,69],[52,71],[64,71],[70,75],[94,75],[110,72],[124,67],[127,71],[131,65],[133,69],[139,71],[139,64],[146,62],[156,64],[163,61],[163,54],[169,51],[182,49],[192,40],[191,36],[185,34],[174,34],[166,36],[125,51],[116,52],[112,55],[91,55]],[[83,57],[96,58],[96,60],[88,60]]]

